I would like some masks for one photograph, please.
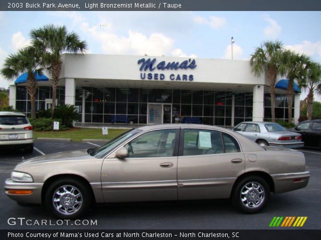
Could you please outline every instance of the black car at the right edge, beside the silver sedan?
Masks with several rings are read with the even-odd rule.
[[[289,131],[300,133],[304,146],[321,148],[321,119],[301,121]]]

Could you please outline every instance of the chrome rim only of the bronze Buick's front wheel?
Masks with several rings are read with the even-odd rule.
[[[54,208],[62,214],[74,214],[81,208],[83,196],[77,187],[63,185],[54,191],[52,203]]]

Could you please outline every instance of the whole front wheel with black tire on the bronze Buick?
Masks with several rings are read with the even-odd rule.
[[[91,199],[87,185],[74,178],[53,182],[45,193],[47,209],[61,219],[81,217],[88,210]]]

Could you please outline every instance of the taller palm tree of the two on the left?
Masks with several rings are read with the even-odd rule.
[[[30,32],[33,46],[42,54],[43,65],[52,76],[52,116],[56,106],[56,91],[65,52],[84,53],[87,43],[81,41],[75,32],[68,32],[66,26],[45,25]]]

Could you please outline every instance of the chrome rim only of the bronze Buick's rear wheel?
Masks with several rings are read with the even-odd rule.
[[[256,181],[248,182],[242,187],[240,197],[245,207],[256,208],[264,201],[264,187]]]

